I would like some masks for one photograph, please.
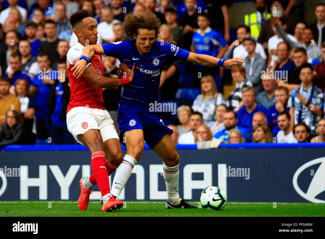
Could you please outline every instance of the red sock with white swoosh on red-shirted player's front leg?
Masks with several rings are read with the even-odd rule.
[[[91,170],[102,196],[110,193],[110,179],[106,171],[104,151],[96,151],[91,154]]]

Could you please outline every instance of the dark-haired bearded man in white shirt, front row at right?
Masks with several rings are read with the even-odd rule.
[[[286,111],[280,112],[277,117],[280,131],[277,134],[278,143],[298,143],[294,138],[291,126],[290,114]]]

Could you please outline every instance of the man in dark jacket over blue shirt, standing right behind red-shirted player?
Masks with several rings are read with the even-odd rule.
[[[53,144],[73,144],[74,138],[67,128],[67,106],[70,100],[70,86],[67,63],[58,60],[60,80],[55,81],[47,100],[47,116],[51,123],[50,135]]]

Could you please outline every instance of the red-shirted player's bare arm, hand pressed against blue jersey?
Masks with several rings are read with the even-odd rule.
[[[128,84],[129,82],[131,82],[133,79],[133,75],[134,75],[134,67],[135,67],[135,65],[133,65],[132,69],[130,70],[130,68],[125,64],[125,62],[123,62],[122,69],[123,69],[123,72],[125,72],[125,77],[123,79],[110,78],[110,77],[98,75],[96,69],[92,65],[89,65],[85,69],[83,76],[95,88],[113,88],[113,87],[122,86],[122,85],[125,85],[125,84]]]

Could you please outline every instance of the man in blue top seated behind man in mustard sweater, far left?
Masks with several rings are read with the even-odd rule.
[[[4,76],[8,76],[12,81],[12,85],[15,85],[15,82],[19,78],[23,78],[28,81],[28,84],[32,84],[31,77],[21,70],[21,56],[18,52],[12,53],[9,57],[10,70],[7,73],[4,73]]]

